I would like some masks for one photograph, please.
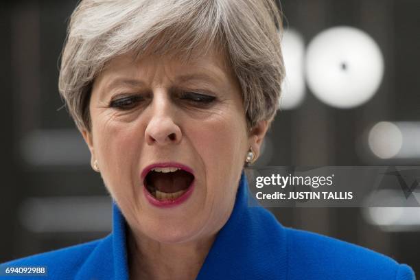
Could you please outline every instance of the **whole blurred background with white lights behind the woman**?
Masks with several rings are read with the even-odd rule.
[[[0,262],[110,232],[110,198],[58,95],[77,2],[0,4]],[[419,165],[420,1],[281,6],[288,78],[257,165]],[[397,219],[386,219],[393,210],[270,210],[285,226],[371,248],[420,275],[419,209]]]

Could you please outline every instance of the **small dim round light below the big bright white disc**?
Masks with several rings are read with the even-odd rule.
[[[398,126],[388,121],[381,121],[369,132],[369,148],[380,159],[390,159],[401,150],[403,137]]]

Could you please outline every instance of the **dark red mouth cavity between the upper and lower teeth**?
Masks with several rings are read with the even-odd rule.
[[[187,189],[194,177],[188,172],[177,170],[176,172],[150,172],[149,181],[155,189],[170,194]]]

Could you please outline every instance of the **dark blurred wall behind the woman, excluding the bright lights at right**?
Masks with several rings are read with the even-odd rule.
[[[0,262],[108,234],[110,205],[102,180],[58,95],[58,59],[77,1],[16,1],[0,7]],[[285,25],[309,43],[336,25],[368,33],[385,58],[375,96],[353,109],[332,108],[306,89],[303,103],[282,110],[268,133],[264,165],[419,165],[419,158],[378,159],[364,150],[377,121],[420,121],[420,2],[284,0]],[[420,139],[417,139],[420,141]],[[386,231],[362,209],[271,209],[286,226],[360,244],[420,274],[414,224]]]

